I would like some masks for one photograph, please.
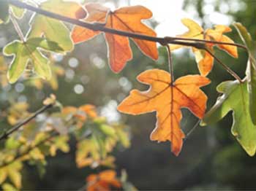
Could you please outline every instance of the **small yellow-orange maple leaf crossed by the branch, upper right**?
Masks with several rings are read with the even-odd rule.
[[[184,26],[189,28],[184,34],[177,35],[177,37],[181,38],[189,38],[189,39],[202,39],[202,40],[211,40],[217,42],[228,42],[234,43],[232,39],[224,34],[232,31],[228,26],[217,25],[214,29],[208,28],[203,30],[195,21],[184,18],[181,20]],[[213,52],[215,44],[207,43],[206,47],[209,51]],[[232,55],[234,58],[238,58],[237,47],[225,44],[216,44],[217,47],[221,50],[225,50],[227,53]],[[180,47],[184,47],[183,45],[170,45],[170,50],[176,50]],[[206,50],[198,50],[196,48],[192,48],[192,51],[195,54],[195,59],[197,61],[197,66],[204,77],[208,75],[214,65],[214,58],[206,51]]]

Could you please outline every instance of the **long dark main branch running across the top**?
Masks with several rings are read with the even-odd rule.
[[[180,44],[180,45],[185,45],[185,46],[191,46],[191,47],[196,47],[198,49],[203,49],[205,48],[205,43],[213,43],[213,44],[226,44],[230,46],[236,46],[236,47],[242,47],[246,49],[242,44],[236,44],[236,43],[227,43],[227,42],[216,42],[216,41],[208,41],[208,40],[200,40],[200,39],[183,39],[183,38],[178,38],[178,37],[170,37],[166,36],[164,38],[156,37],[156,36],[147,36],[143,34],[136,34],[136,33],[130,33],[127,31],[118,31],[113,28],[107,28],[105,26],[102,26],[102,24],[99,23],[87,23],[85,21],[77,20],[71,17],[65,17],[63,15],[56,14],[54,12],[48,12],[44,9],[40,9],[34,6],[31,6],[29,4],[23,3],[22,1],[17,1],[17,0],[9,0],[9,3],[14,5],[15,7],[20,7],[22,9],[29,9],[32,12],[37,12],[40,15],[45,15],[46,17],[51,17],[56,20],[61,20],[66,23],[71,23],[76,26],[81,26],[83,28],[89,28],[92,31],[103,31],[105,33],[110,33],[110,34],[117,34],[120,36],[127,36],[131,37],[134,39],[142,39],[142,40],[147,40],[151,42],[159,42],[159,44],[162,45],[167,45],[167,44]],[[187,42],[187,41],[192,41],[192,42]]]

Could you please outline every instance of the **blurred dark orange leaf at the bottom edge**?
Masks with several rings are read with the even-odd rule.
[[[112,170],[102,171],[99,174],[91,174],[87,177],[86,182],[88,191],[108,191],[110,187],[121,187],[121,183],[116,179],[116,172]]]

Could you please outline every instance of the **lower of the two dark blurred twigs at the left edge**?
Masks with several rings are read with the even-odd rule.
[[[12,163],[14,163],[16,160],[19,160],[20,158],[26,156],[29,154],[29,152],[31,152],[33,149],[41,146],[42,144],[44,144],[46,141],[49,141],[50,139],[52,139],[53,137],[59,135],[59,133],[57,133],[56,131],[51,133],[50,136],[46,137],[45,139],[43,139],[42,141],[39,141],[37,144],[35,144],[34,146],[30,147],[29,149],[26,150],[26,152],[20,153],[19,155],[16,155],[12,160],[10,160],[7,163],[3,163],[2,165],[0,165],[0,169],[6,167],[7,165],[10,165]]]

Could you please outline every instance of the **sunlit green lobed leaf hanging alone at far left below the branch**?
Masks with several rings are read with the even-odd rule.
[[[49,66],[49,60],[42,55],[40,49],[60,52],[62,51],[56,42],[48,41],[43,38],[31,38],[26,42],[15,40],[4,47],[4,55],[14,55],[12,63],[7,73],[7,78],[10,83],[14,83],[23,74],[26,69],[27,63],[31,61],[34,65],[34,71],[43,79],[50,79],[51,71]]]

